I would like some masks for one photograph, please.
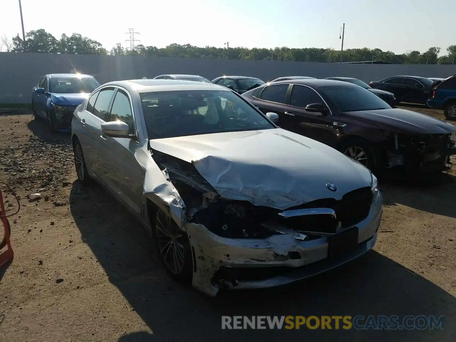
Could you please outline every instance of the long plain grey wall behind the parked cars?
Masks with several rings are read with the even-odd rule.
[[[280,76],[347,76],[369,82],[394,75],[445,78],[456,73],[456,65],[341,64],[0,52],[0,104],[30,103],[31,89],[43,75],[72,73],[74,70],[91,74],[101,83],[143,76],[153,78],[166,73],[196,74],[211,80],[221,75],[243,75],[258,77],[266,82]]]

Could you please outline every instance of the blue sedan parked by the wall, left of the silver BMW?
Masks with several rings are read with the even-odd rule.
[[[100,83],[90,75],[45,75],[31,93],[33,116],[35,119],[46,119],[51,132],[68,130],[74,109],[99,86]]]

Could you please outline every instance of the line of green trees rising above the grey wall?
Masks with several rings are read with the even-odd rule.
[[[273,60],[297,62],[340,62],[340,50],[332,48],[246,48],[246,47],[196,47],[190,44],[170,44],[167,47],[137,45],[133,49],[122,47],[120,43],[106,50],[100,42],[78,33],[71,36],[62,34],[60,39],[52,36],[44,29],[27,32],[26,41],[18,35],[10,40],[9,46],[5,36],[2,37],[3,46],[11,52],[40,52],[40,53],[70,53],[70,54],[96,54],[112,56],[150,56],[150,57],[193,57],[193,58],[219,58],[219,59],[244,59],[244,60]],[[0,42],[1,44],[1,42]],[[1,50],[0,50],[1,51]],[[446,48],[447,54],[438,56],[440,47],[430,47],[425,52],[407,51],[395,54],[381,49],[368,47],[346,49],[342,53],[342,62],[383,61],[393,64],[436,64],[456,62],[456,45]]]

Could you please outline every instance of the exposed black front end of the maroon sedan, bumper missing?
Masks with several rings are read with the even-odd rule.
[[[445,171],[456,154],[449,134],[404,135],[385,132],[385,166],[405,173]]]

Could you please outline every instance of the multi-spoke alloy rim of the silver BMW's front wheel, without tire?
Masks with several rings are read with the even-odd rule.
[[[157,213],[155,234],[158,250],[166,268],[175,275],[180,274],[185,263],[184,242],[182,240],[185,237],[181,234],[176,223],[162,210]]]

